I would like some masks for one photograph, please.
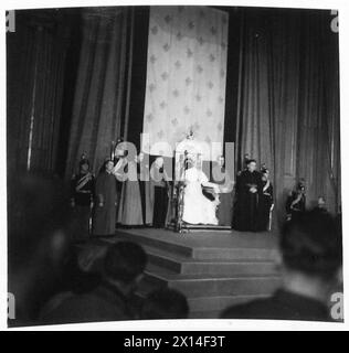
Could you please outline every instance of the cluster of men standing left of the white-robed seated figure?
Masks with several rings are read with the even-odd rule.
[[[72,206],[78,238],[107,236],[123,226],[162,227],[168,207],[168,189],[162,178],[162,162],[157,159],[151,172],[161,178],[149,178],[148,163],[140,163],[144,154],[128,163],[124,150],[107,158],[97,178],[83,154],[78,173],[72,178]],[[158,161],[159,160],[159,161]],[[124,178],[127,175],[127,178]]]

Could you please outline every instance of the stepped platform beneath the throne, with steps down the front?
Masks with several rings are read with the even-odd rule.
[[[272,233],[117,229],[107,242],[144,246],[149,265],[138,296],[169,286],[183,292],[191,318],[218,318],[230,304],[267,297],[279,285],[277,236]]]

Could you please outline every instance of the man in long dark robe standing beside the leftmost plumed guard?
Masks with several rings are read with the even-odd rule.
[[[113,169],[114,162],[106,160],[96,179],[93,234],[97,236],[115,234],[117,189]]]

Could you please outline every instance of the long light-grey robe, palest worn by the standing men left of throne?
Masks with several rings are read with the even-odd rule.
[[[124,172],[128,178],[123,181],[117,222],[125,226],[144,225],[137,163],[127,162],[126,158],[124,161]]]

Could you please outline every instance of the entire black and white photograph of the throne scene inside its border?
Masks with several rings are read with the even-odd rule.
[[[8,328],[343,323],[339,19],[8,8]]]

